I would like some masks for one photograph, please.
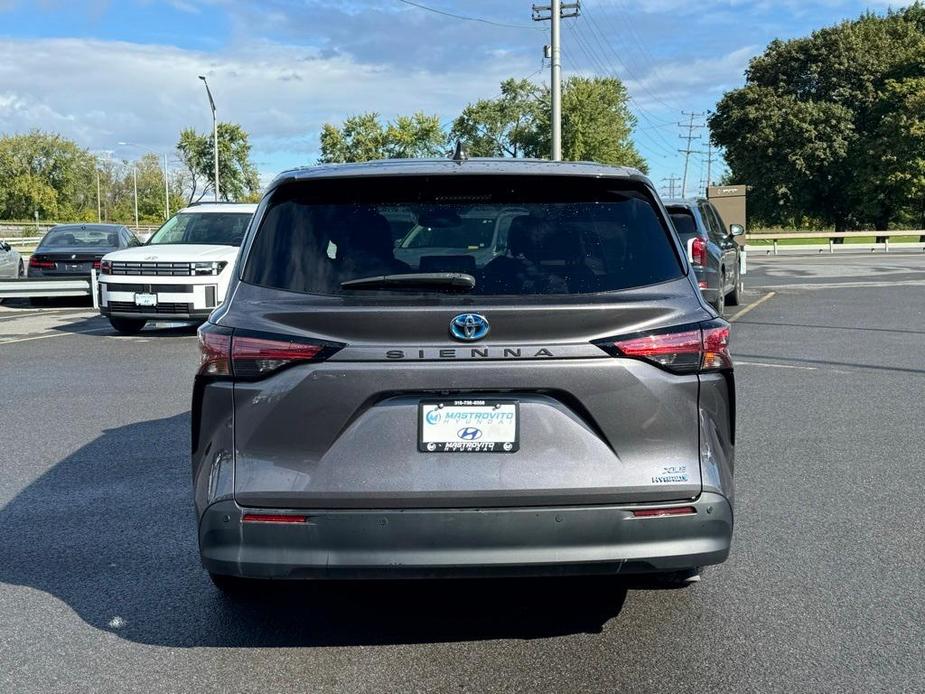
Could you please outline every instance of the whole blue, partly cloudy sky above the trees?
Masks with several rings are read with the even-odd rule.
[[[0,132],[57,131],[125,159],[170,152],[180,129],[211,127],[196,78],[206,74],[219,117],[251,133],[267,180],[317,159],[325,121],[417,110],[449,121],[505,77],[549,79],[533,0],[415,2],[511,26],[401,0],[0,0]],[[902,3],[584,0],[563,22],[564,74],[624,80],[634,139],[662,186],[683,169],[681,112],[741,85],[769,41],[890,4]],[[691,159],[689,192],[703,159]]]

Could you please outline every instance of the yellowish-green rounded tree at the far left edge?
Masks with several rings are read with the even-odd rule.
[[[79,218],[96,208],[94,158],[60,135],[0,136],[0,218]]]

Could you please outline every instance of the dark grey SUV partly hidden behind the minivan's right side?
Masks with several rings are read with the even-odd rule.
[[[694,266],[704,298],[723,315],[726,304],[737,306],[745,290],[740,254],[735,237],[745,229],[723,222],[716,207],[704,198],[668,200],[668,214]]]

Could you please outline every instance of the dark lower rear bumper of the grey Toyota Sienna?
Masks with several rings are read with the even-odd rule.
[[[328,510],[305,523],[242,523],[233,500],[199,525],[212,573],[254,578],[632,574],[725,561],[733,514],[704,493],[695,514],[636,518],[638,504],[560,508]],[[664,504],[659,504],[664,506]],[[270,513],[287,513],[268,509]]]

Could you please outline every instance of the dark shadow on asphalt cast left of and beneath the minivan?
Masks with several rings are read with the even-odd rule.
[[[189,413],[105,431],[0,509],[0,581],[171,647],[331,646],[598,632],[614,579],[272,583],[243,599],[199,565]]]

